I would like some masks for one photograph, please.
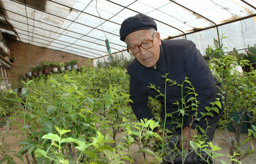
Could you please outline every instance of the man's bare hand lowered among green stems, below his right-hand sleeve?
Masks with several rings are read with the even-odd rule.
[[[189,127],[186,126],[183,129],[183,135],[182,135],[183,137],[180,138],[180,148],[182,148],[182,138],[183,138],[183,149],[187,150],[189,148],[189,140],[193,140],[195,135],[197,135],[197,130],[190,129],[190,136],[189,136]]]

